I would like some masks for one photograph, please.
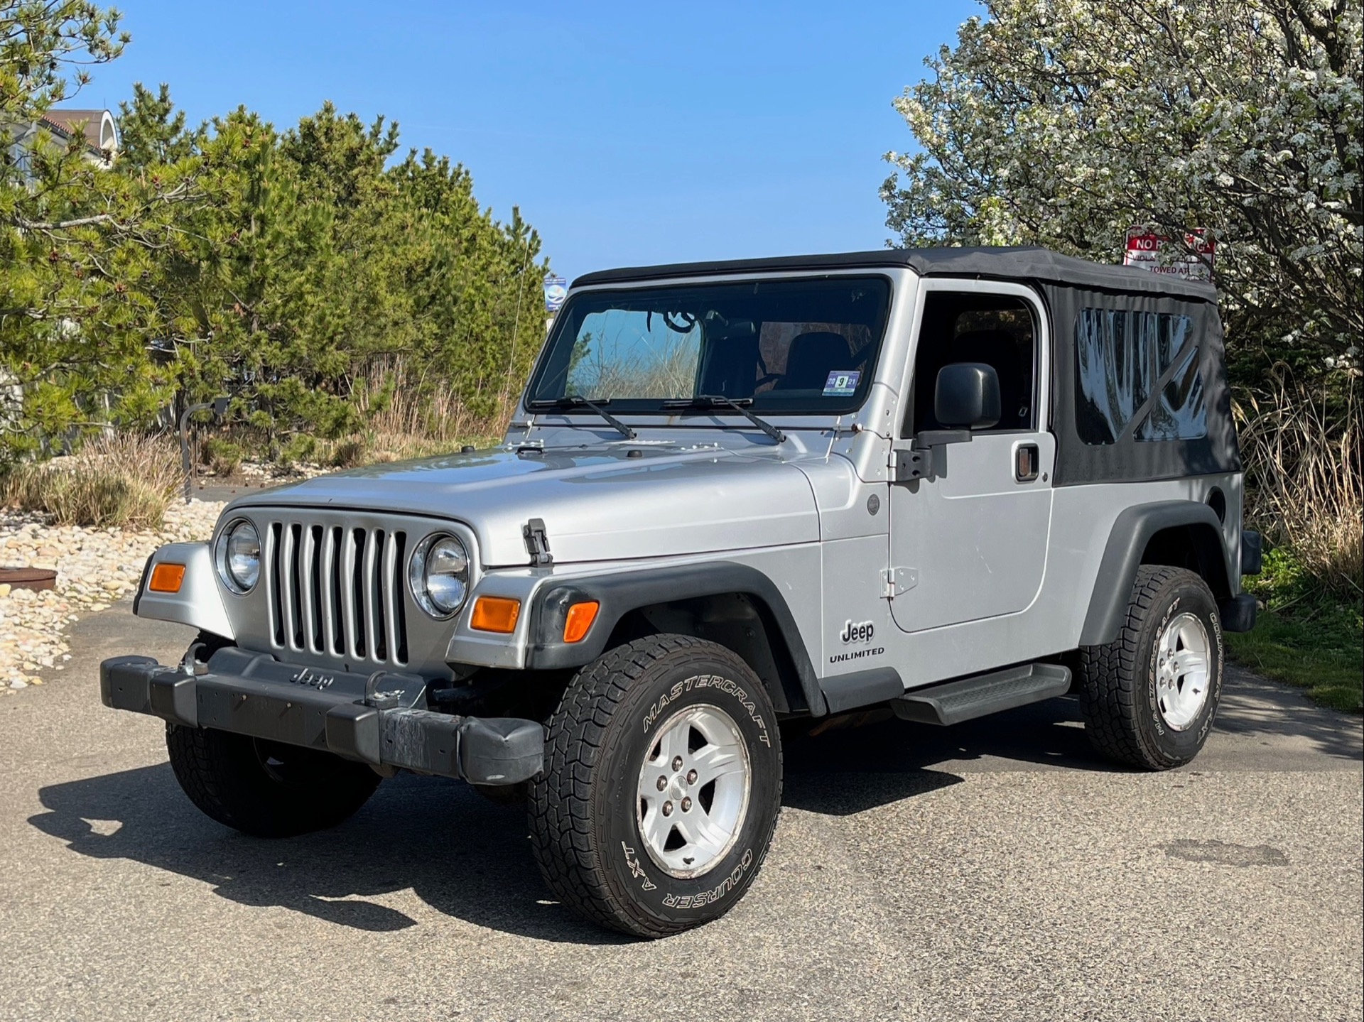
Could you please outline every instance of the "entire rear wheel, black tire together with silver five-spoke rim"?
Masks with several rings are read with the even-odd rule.
[[[1194,572],[1143,565],[1117,639],[1080,649],[1080,705],[1095,749],[1146,770],[1192,760],[1222,696],[1222,624]]]

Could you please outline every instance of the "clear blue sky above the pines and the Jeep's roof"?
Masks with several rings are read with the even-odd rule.
[[[192,120],[323,100],[464,162],[554,270],[880,247],[891,100],[981,8],[125,0],[132,45],[78,102],[168,82]]]

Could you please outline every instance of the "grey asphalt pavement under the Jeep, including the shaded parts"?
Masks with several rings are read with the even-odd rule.
[[[1203,755],[1098,760],[1073,700],[787,746],[723,920],[626,940],[551,901],[524,816],[385,782],[289,841],[199,815],[97,665],[0,700],[0,1019],[1360,1019],[1360,719],[1232,670]]]

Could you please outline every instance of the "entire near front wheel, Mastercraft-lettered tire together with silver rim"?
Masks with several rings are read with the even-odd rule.
[[[569,684],[532,782],[531,836],[565,905],[662,937],[738,902],[780,802],[782,740],[762,682],[722,645],[652,636]]]

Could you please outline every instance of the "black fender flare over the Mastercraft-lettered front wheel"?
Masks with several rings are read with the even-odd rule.
[[[812,714],[822,716],[827,712],[824,695],[786,598],[762,572],[732,561],[610,572],[542,585],[531,600],[525,666],[531,670],[582,667],[606,652],[611,632],[630,611],[674,600],[722,595],[747,596],[756,603],[760,617],[769,626],[768,640],[773,647],[777,643],[784,645],[805,704]],[[582,600],[596,600],[600,610],[581,641],[565,643],[563,622],[567,610]]]

